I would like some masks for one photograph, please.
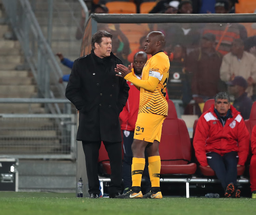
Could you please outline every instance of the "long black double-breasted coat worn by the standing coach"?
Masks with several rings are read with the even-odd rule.
[[[114,68],[115,55],[99,58],[93,51],[74,61],[66,97],[79,110],[76,140],[121,142],[119,113],[128,99],[126,80]]]

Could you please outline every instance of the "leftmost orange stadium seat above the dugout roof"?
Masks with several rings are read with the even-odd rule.
[[[111,1],[106,3],[109,13],[136,13],[136,4],[126,1]]]

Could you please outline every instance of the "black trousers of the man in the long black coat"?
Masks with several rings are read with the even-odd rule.
[[[89,194],[100,194],[99,190],[99,177],[98,177],[98,158],[101,141],[90,142],[82,141],[86,171],[88,177]],[[109,194],[121,193],[122,191],[122,143],[106,142],[103,141],[106,151],[108,152],[110,159],[111,175]],[[102,193],[103,194],[103,193]]]

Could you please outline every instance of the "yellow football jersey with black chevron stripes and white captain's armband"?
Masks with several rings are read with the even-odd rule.
[[[170,61],[163,52],[158,52],[147,60],[141,80],[148,80],[149,76],[158,78],[159,83],[154,92],[140,88],[140,105],[138,113],[153,113],[168,115],[168,103],[166,97],[166,85],[169,78]]]

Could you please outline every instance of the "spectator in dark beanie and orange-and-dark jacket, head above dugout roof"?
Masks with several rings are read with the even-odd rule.
[[[226,0],[217,0],[215,4],[215,13],[226,14],[229,10],[229,3]],[[230,52],[231,44],[235,39],[247,38],[245,27],[237,23],[210,23],[204,27],[203,34],[213,33],[216,36],[216,51],[222,55]]]

